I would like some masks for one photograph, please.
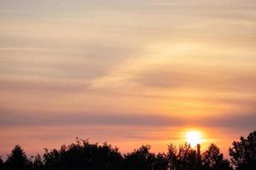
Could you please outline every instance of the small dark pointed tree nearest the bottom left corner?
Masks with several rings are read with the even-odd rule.
[[[4,163],[4,168],[7,170],[29,170],[32,167],[31,161],[26,157],[26,153],[20,148],[20,145],[15,145],[15,149]]]

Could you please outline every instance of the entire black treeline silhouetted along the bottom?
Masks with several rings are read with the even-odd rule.
[[[168,145],[166,153],[154,154],[149,145],[122,155],[110,144],[90,144],[77,139],[76,144],[62,145],[60,150],[45,149],[44,156],[28,158],[16,145],[0,170],[255,170],[256,131],[233,142],[230,161],[215,144],[197,153],[189,144]]]

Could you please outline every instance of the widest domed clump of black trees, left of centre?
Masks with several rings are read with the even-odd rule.
[[[83,140],[82,144],[61,146],[61,150],[45,150],[44,164],[46,170],[119,170],[122,166],[123,157],[118,148],[104,143],[89,144]]]

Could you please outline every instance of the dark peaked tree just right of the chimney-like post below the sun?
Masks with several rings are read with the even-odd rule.
[[[211,144],[202,154],[202,166],[205,170],[232,170],[230,162],[224,159],[215,144]]]

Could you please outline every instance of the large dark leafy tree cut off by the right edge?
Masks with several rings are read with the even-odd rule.
[[[230,148],[231,162],[237,170],[255,170],[256,168],[256,131],[234,141]]]

